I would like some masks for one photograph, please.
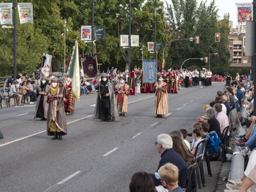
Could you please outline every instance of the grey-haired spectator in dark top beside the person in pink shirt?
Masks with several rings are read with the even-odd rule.
[[[198,116],[198,122],[207,122],[210,125],[209,132],[215,131],[218,136],[221,136],[220,133],[220,123],[216,119],[216,111],[213,108],[208,108],[205,112],[205,118],[203,116]]]

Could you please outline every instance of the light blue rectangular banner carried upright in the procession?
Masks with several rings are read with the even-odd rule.
[[[143,83],[155,83],[156,76],[156,60],[143,60]]]

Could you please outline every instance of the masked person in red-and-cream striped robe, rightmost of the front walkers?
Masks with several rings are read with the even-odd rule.
[[[159,75],[154,87],[156,89],[155,115],[163,117],[163,115],[168,115],[168,92],[167,84],[163,82],[162,75]]]

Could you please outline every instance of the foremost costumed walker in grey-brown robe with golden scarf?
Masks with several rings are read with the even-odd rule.
[[[47,113],[47,135],[54,137],[52,140],[62,140],[62,136],[67,134],[67,121],[64,109],[65,83],[63,86],[58,82],[58,78],[51,79],[51,87],[47,102],[49,103]]]

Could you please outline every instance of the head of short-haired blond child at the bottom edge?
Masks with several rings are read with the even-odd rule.
[[[168,191],[183,192],[178,184],[179,168],[177,166],[172,163],[166,163],[159,168],[158,173],[164,188],[168,189]]]

